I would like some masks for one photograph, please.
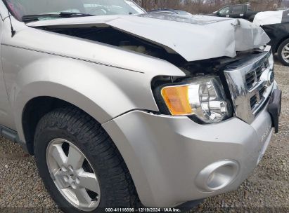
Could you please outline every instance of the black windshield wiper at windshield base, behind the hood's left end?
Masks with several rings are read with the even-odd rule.
[[[38,21],[39,18],[73,18],[73,17],[85,17],[94,16],[86,13],[72,13],[72,12],[60,12],[60,13],[44,13],[35,15],[23,15],[23,22],[34,22]]]

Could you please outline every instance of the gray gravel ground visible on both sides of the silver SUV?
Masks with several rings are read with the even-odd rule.
[[[276,64],[276,78],[283,90],[280,133],[237,191],[207,198],[195,212],[289,212],[289,68]],[[34,158],[0,137],[0,212],[47,209],[60,212],[42,184]]]

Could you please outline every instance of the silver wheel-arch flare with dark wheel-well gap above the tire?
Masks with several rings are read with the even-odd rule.
[[[27,135],[27,130],[32,127],[35,128],[41,116],[57,107],[72,105],[89,114],[98,123],[113,118],[113,115],[108,114],[108,111],[101,107],[101,103],[98,104],[91,97],[87,97],[64,85],[51,82],[34,82],[30,86],[30,89],[21,90],[13,102],[15,128],[21,143],[31,144],[33,137]],[[32,127],[27,128],[30,122],[32,122]]]

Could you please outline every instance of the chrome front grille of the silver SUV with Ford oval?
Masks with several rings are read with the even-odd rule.
[[[252,123],[263,109],[273,88],[273,55],[271,48],[229,65],[224,71],[236,117]]]

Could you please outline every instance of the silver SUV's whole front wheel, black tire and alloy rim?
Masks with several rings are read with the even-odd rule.
[[[79,109],[56,109],[41,118],[34,153],[44,185],[64,212],[139,205],[115,144],[99,123]]]

